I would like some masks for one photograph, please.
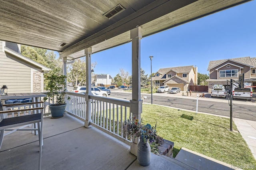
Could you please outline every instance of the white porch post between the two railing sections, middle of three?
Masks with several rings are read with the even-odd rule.
[[[92,122],[92,100],[89,98],[90,95],[92,95],[92,66],[91,66],[91,54],[92,54],[92,47],[87,48],[84,50],[85,56],[86,56],[86,94],[85,94],[85,100],[86,100],[86,120],[84,122],[84,126],[89,128],[92,127],[90,123]]]

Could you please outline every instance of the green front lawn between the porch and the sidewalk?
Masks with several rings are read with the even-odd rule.
[[[254,165],[256,169],[256,160],[236,125],[233,123],[234,131],[228,130],[229,119],[149,104],[143,104],[142,111],[144,123],[154,126],[157,122],[157,134],[174,142],[174,157],[185,147],[231,165]]]

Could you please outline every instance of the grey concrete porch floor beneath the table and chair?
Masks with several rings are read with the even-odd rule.
[[[68,114],[60,119],[44,118],[42,169],[123,170],[192,169],[177,161],[151,155],[150,166],[138,165],[130,146]],[[0,170],[38,169],[38,136],[16,131],[4,137],[0,150]]]

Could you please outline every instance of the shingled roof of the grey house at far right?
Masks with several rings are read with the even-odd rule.
[[[215,60],[210,61],[208,65],[208,71],[226,61],[234,61],[236,63],[244,64],[253,68],[256,68],[256,57],[250,58],[250,57],[240,57],[240,58],[234,58],[234,59],[224,59],[224,60]]]

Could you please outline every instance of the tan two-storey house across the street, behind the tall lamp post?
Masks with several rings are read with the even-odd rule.
[[[179,87],[181,91],[188,91],[190,85],[197,84],[197,67],[180,66],[160,68],[152,77],[154,86],[167,85]]]

